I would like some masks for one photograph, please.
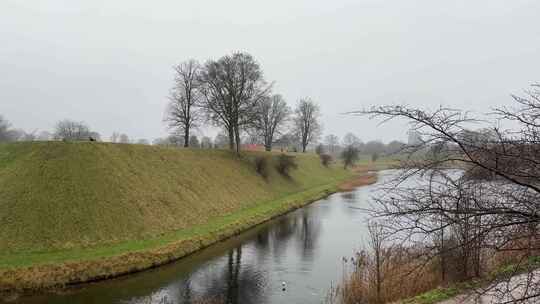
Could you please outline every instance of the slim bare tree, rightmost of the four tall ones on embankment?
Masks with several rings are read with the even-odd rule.
[[[319,122],[319,106],[311,98],[306,97],[300,99],[294,112],[295,131],[300,138],[302,152],[305,153],[307,146],[321,136],[322,127]]]

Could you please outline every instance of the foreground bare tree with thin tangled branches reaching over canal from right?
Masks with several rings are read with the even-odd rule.
[[[514,274],[526,270],[528,275],[496,278],[495,284],[481,290],[498,293],[496,303],[540,297],[538,274],[528,264],[540,252],[540,86],[534,85],[526,94],[513,96],[516,107],[491,113],[516,126],[507,131],[448,108],[425,111],[381,106],[358,112],[385,120],[408,120],[422,137],[420,143],[407,146],[410,157],[402,161],[399,178],[375,199],[375,213],[402,240],[432,250],[424,251],[423,256],[457,253],[464,279],[481,274],[486,264],[483,257],[514,257],[518,263]],[[470,131],[472,123],[485,127]],[[414,157],[418,153],[422,157]],[[427,182],[411,186],[406,180],[412,177]],[[449,238],[455,241],[449,243]],[[441,239],[446,245],[429,245]],[[500,281],[503,279],[506,284]],[[521,280],[521,287],[511,283],[515,280]]]

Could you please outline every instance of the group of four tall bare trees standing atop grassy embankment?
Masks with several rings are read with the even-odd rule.
[[[320,110],[310,98],[291,110],[272,92],[259,63],[248,53],[233,53],[200,64],[190,59],[174,67],[165,121],[172,134],[190,146],[192,130],[202,123],[222,128],[231,150],[240,152],[248,134],[270,151],[275,143],[296,141],[303,152],[321,134]],[[220,138],[221,139],[221,138]]]

